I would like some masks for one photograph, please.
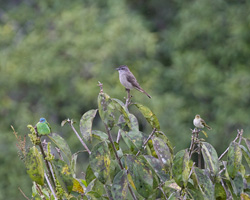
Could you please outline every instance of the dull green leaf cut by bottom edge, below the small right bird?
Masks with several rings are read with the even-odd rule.
[[[197,167],[194,168],[194,173],[198,181],[199,188],[204,193],[204,199],[214,200],[214,185],[208,175],[204,172],[204,170]]]

